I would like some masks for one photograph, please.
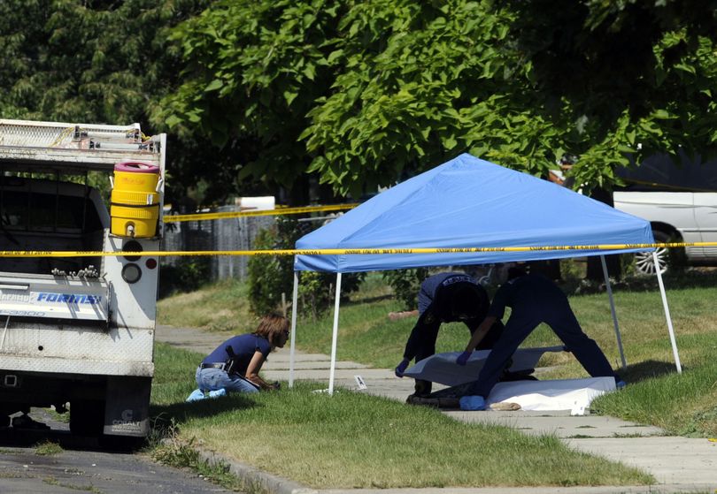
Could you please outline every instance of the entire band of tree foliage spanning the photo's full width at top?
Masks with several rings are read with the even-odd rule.
[[[655,151],[713,155],[715,12],[715,0],[5,2],[0,114],[168,128],[169,183],[204,201],[307,177],[358,197],[466,151],[535,175],[576,156],[576,183],[609,188],[616,166]]]

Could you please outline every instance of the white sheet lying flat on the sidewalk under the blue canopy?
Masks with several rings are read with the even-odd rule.
[[[505,401],[517,403],[521,410],[570,410],[571,415],[583,415],[593,399],[614,390],[613,377],[512,381],[496,384],[486,401],[489,406]]]

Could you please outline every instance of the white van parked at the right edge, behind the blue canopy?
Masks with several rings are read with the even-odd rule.
[[[614,207],[648,220],[656,242],[717,242],[717,162],[681,162],[651,156],[619,171],[626,186],[613,193]],[[717,247],[686,247],[684,255],[692,265],[717,265]],[[658,257],[665,272],[667,249],[658,249]],[[636,255],[636,269],[654,274],[652,255]]]

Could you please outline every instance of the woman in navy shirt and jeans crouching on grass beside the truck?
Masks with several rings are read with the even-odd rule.
[[[289,320],[281,315],[266,315],[257,331],[227,339],[207,355],[197,368],[198,389],[187,401],[221,396],[227,392],[275,390],[258,372],[266,357],[275,348],[282,348],[289,339]]]

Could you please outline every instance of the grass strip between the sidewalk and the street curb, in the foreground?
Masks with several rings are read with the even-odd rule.
[[[200,358],[158,344],[152,414],[173,421],[187,442],[314,488],[654,482],[635,468],[571,451],[556,436],[466,424],[343,389],[312,392],[322,384],[188,404]]]

